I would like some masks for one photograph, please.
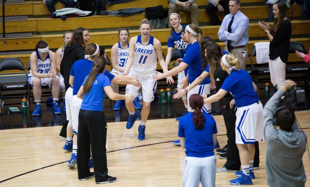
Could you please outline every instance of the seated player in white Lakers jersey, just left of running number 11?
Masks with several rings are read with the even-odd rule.
[[[121,28],[118,30],[118,39],[119,41],[112,46],[111,49],[111,61],[113,69],[111,73],[113,75],[121,75],[125,71],[127,59],[128,59],[128,50],[129,50],[129,31],[127,28]],[[115,93],[119,93],[118,84],[111,83],[111,86]],[[134,105],[136,109],[141,109],[142,106],[139,103],[139,94],[135,95]],[[122,107],[122,102],[115,101],[113,110],[119,110]]]

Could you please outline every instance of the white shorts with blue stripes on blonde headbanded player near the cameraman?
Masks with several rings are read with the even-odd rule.
[[[236,143],[254,144],[263,140],[263,105],[261,102],[237,108]]]

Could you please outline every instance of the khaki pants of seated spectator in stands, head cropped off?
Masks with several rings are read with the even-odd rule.
[[[169,3],[168,16],[171,13],[178,13],[180,11],[190,13],[191,14],[191,23],[196,24],[198,26],[198,5],[196,3],[191,4],[188,8],[184,8],[183,6],[176,5],[174,3]],[[185,23],[185,19],[184,19],[183,23]],[[168,17],[168,26],[169,26],[169,28],[171,28],[169,17]]]

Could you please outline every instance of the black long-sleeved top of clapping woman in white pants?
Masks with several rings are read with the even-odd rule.
[[[269,59],[280,57],[281,61],[287,63],[289,58],[290,36],[292,25],[289,20],[283,20],[269,44]]]

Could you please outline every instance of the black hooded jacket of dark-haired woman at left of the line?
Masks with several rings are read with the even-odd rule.
[[[69,84],[70,70],[73,63],[84,59],[84,56],[85,49],[80,45],[73,44],[70,47],[64,48],[64,56],[60,63],[60,73],[64,77],[64,83]]]

